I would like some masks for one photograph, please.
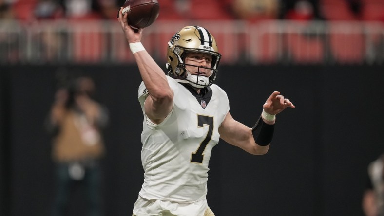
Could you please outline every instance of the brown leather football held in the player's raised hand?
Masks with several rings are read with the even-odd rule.
[[[126,0],[123,5],[123,14],[128,13],[128,24],[135,29],[150,26],[159,11],[157,0]]]

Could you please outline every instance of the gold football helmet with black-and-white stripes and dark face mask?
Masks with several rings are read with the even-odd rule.
[[[209,77],[191,75],[185,69],[185,54],[189,52],[212,55],[211,67],[208,68],[211,70]],[[207,29],[199,26],[186,26],[174,34],[168,42],[168,75],[175,78],[178,82],[189,83],[195,88],[211,86],[216,78],[220,58],[221,54],[218,53],[216,40]]]

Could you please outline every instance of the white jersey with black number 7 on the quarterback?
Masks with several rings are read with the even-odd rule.
[[[208,162],[219,141],[218,128],[229,111],[227,94],[212,85],[205,96],[193,94],[167,76],[173,89],[173,109],[155,125],[144,114],[141,162],[146,199],[191,203],[206,198]],[[138,97],[144,113],[148,96],[141,83]]]

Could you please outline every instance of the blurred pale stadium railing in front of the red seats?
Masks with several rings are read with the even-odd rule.
[[[158,62],[187,21],[158,20],[142,43]],[[384,23],[354,21],[197,21],[215,36],[221,64],[383,64]],[[0,63],[134,63],[121,27],[111,21],[0,20]]]

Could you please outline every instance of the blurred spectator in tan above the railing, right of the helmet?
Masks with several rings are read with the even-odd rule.
[[[236,18],[255,22],[263,19],[277,19],[279,0],[233,0]]]

